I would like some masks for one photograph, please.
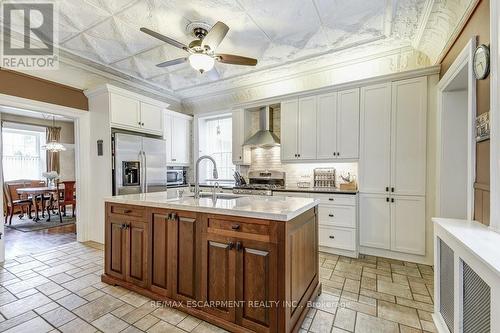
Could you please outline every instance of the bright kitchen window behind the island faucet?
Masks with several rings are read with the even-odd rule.
[[[219,180],[233,179],[233,152],[232,152],[232,117],[221,115],[219,117],[201,118],[199,122],[200,156],[209,155],[217,163]],[[212,163],[202,162],[200,166],[200,179],[213,180]]]

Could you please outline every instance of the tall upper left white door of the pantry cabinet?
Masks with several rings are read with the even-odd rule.
[[[391,85],[361,89],[359,190],[386,193],[391,174]]]

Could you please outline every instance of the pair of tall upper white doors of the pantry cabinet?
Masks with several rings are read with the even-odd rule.
[[[362,88],[360,191],[425,195],[427,78]]]

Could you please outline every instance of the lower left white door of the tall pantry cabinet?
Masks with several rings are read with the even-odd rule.
[[[359,195],[359,244],[390,249],[391,216],[388,196]]]

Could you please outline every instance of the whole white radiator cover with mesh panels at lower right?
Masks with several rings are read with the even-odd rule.
[[[500,333],[500,234],[475,221],[433,222],[438,332]]]

